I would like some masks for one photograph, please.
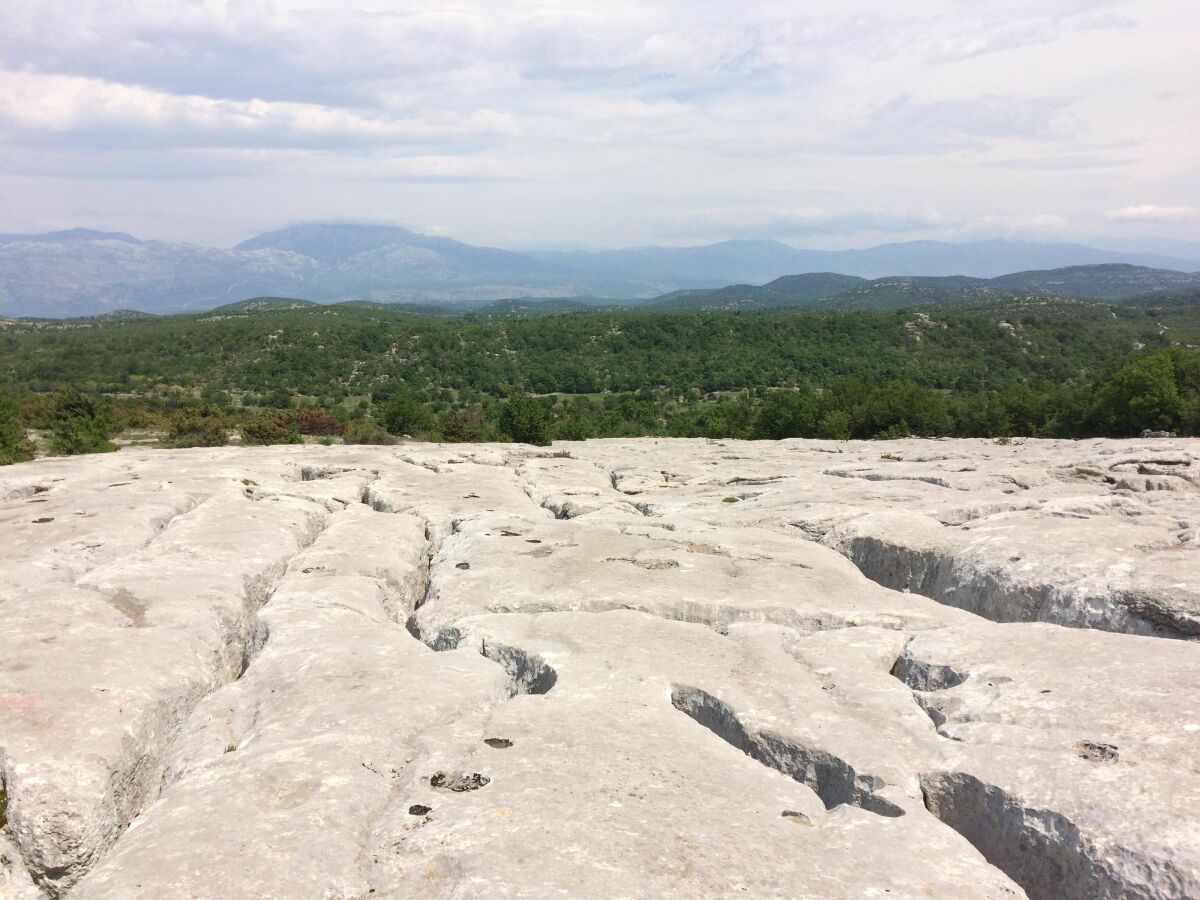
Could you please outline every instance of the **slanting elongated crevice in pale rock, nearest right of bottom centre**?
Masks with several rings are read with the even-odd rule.
[[[848,804],[888,818],[905,815],[876,793],[887,786],[883,779],[860,775],[848,762],[823,750],[769,732],[750,732],[732,707],[712,694],[676,684],[671,703],[752,760],[811,787],[826,809]]]

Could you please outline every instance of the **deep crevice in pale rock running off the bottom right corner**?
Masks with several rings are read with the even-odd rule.
[[[1154,858],[1122,846],[1100,851],[1061,812],[1030,806],[964,772],[924,774],[920,787],[925,808],[1031,900],[1200,896],[1200,878],[1169,851]]]

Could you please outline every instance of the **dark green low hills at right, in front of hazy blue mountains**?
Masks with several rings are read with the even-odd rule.
[[[655,312],[732,312],[779,308],[894,310],[964,300],[1055,296],[1122,300],[1200,288],[1200,272],[1105,264],[1034,270],[995,278],[950,276],[792,275],[762,286],[680,290],[646,302]]]

